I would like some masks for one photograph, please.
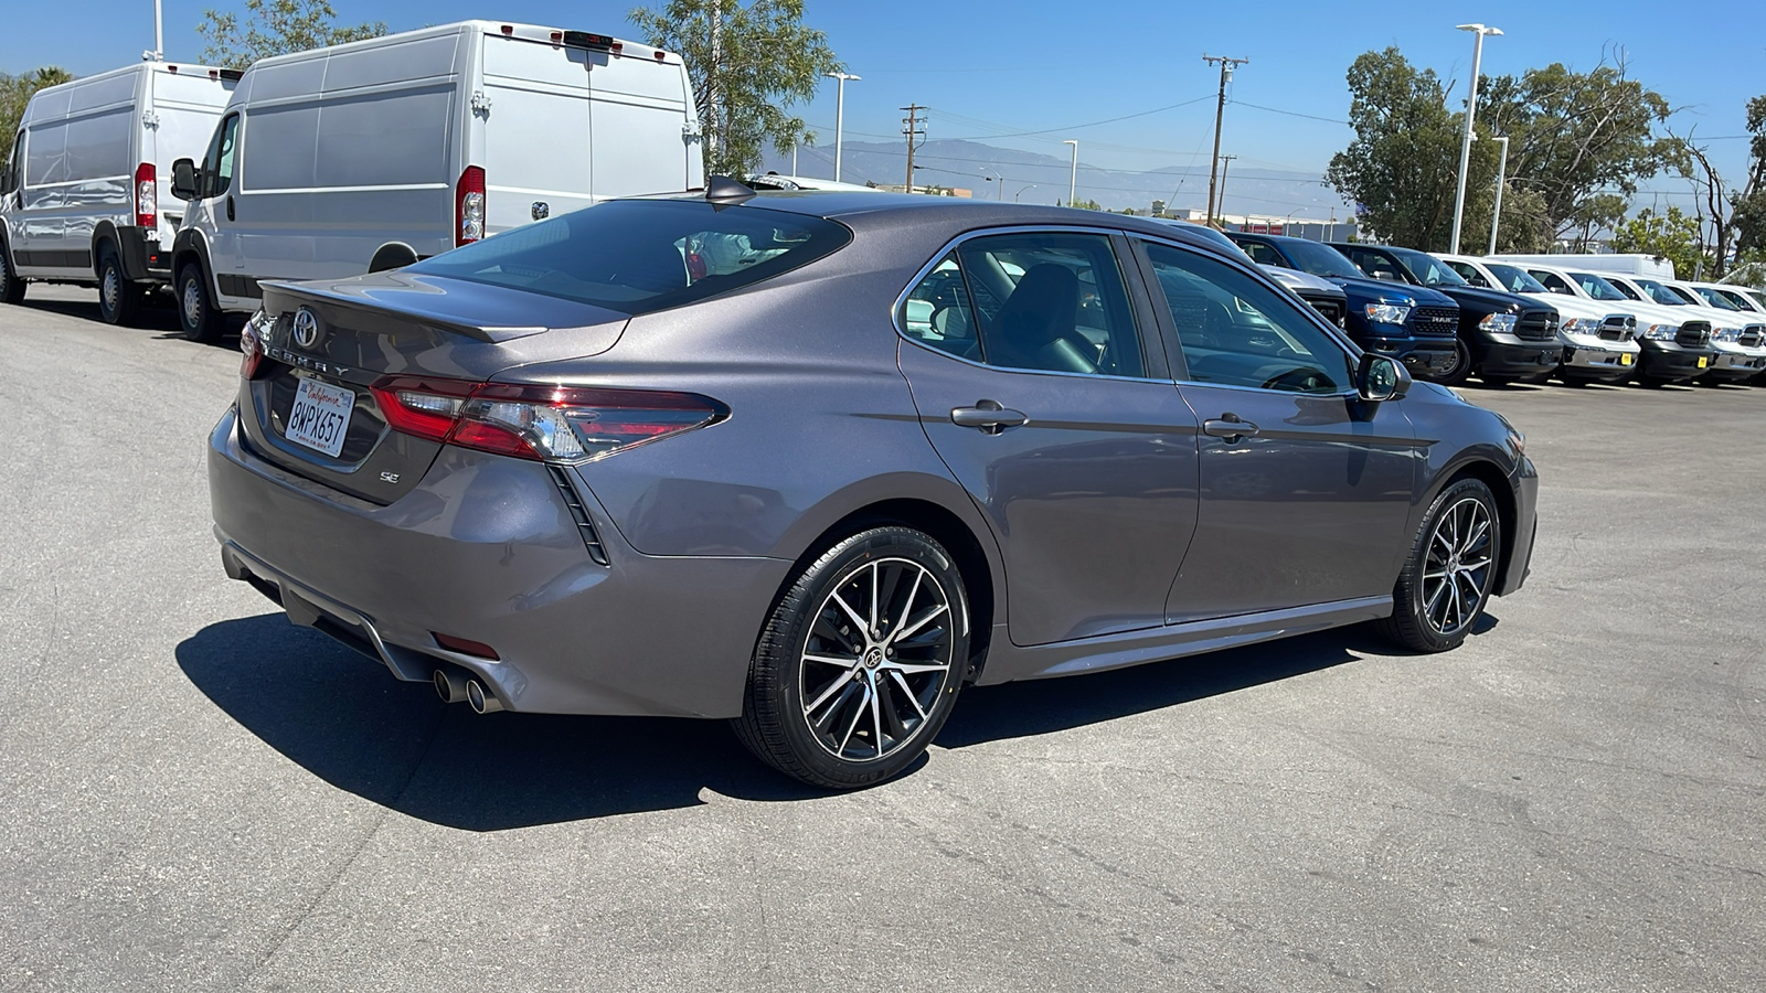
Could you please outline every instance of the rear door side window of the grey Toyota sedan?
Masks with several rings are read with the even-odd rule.
[[[1146,375],[1106,235],[970,239],[920,279],[899,316],[908,337],[1003,369]]]

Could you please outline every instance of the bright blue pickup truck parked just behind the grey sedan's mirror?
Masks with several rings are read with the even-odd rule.
[[[1390,355],[1416,378],[1441,380],[1459,360],[1453,341],[1459,304],[1425,286],[1369,279],[1342,253],[1305,239],[1227,231],[1257,265],[1296,269],[1330,279],[1349,304],[1342,327],[1367,352]]]

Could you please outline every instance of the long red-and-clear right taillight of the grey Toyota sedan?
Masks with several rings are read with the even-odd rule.
[[[721,421],[713,399],[671,390],[519,387],[390,376],[373,387],[394,431],[525,459],[586,461]]]

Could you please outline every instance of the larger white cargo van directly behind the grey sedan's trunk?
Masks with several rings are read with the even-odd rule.
[[[245,71],[178,231],[178,316],[212,337],[260,279],[397,269],[609,196],[705,186],[678,55],[464,21]]]

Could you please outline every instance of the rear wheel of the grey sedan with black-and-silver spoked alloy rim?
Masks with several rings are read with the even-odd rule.
[[[736,737],[786,776],[855,790],[908,769],[950,716],[968,668],[955,560],[906,527],[855,534],[774,604]]]

